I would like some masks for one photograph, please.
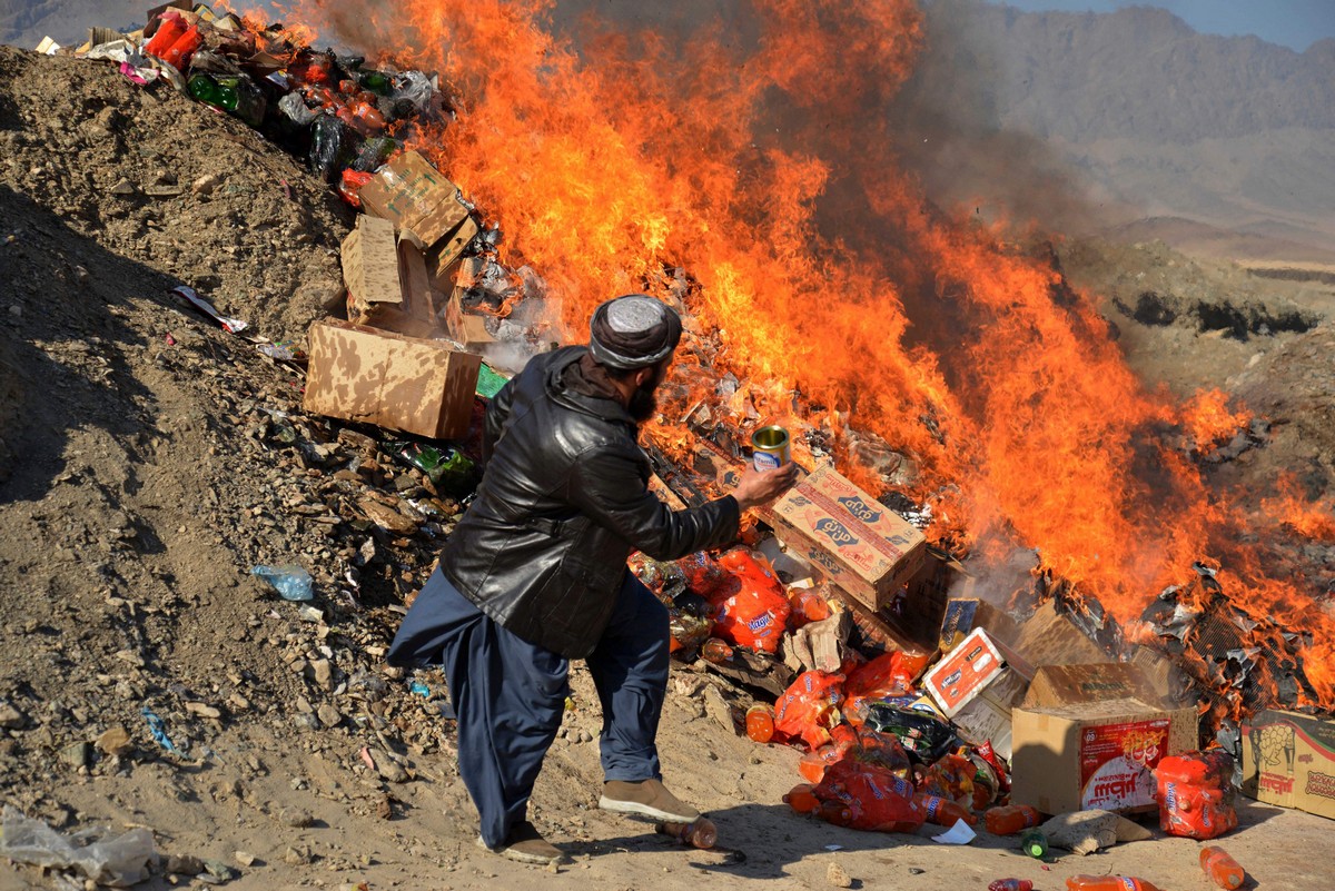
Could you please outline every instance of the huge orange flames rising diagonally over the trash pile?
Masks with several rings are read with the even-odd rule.
[[[573,340],[611,295],[676,295],[708,344],[678,363],[708,369],[701,397],[725,401],[709,388],[732,372],[730,411],[796,412],[886,491],[850,448],[876,433],[905,456],[893,488],[934,506],[933,539],[1035,548],[1123,622],[1214,558],[1235,600],[1310,630],[1310,664],[1335,664],[1319,580],[1276,568],[1244,500],[1173,446],[1204,448],[1246,413],[1147,389],[1085,295],[902,172],[885,112],[922,47],[913,3],[754,0],[689,40],[605,28],[578,51],[553,12],[315,0],[288,15],[450,83],[457,119],[409,139],[499,221],[506,261],[539,271]],[[665,284],[678,269],[690,287]],[[1288,530],[1328,532],[1319,510],[1287,506],[1306,518]],[[1335,678],[1314,680],[1335,704]]]

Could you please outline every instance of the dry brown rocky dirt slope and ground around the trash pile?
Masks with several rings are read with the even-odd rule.
[[[1008,875],[1056,888],[1081,871],[1204,887],[1181,839],[1048,870],[1003,839],[945,848],[930,831],[798,818],[780,803],[798,754],[740,736],[732,707],[748,694],[702,666],[676,671],[661,744],[670,783],[730,850],[686,851],[594,810],[599,716],[577,668],[533,808],[574,863],[542,875],[479,852],[441,679],[380,659],[458,504],[376,431],[303,415],[299,375],[170,296],[186,283],[262,336],[300,339],[340,297],[350,211],[166,84],[7,47],[0,148],[0,799],[61,831],[147,827],[164,860],[139,887],[805,888],[844,872],[850,887],[953,891]],[[1107,295],[1132,361],[1260,400],[1292,431],[1266,460],[1328,471],[1330,288],[1222,291],[1227,269],[1117,251],[1064,259]],[[1171,321],[1137,309],[1145,292]],[[1207,297],[1246,319],[1294,308],[1310,329],[1214,328]],[[310,604],[248,574],[282,563],[315,578]],[[1228,846],[1259,883],[1335,882],[1311,856],[1327,822],[1243,815]],[[0,888],[56,883],[0,866]]]

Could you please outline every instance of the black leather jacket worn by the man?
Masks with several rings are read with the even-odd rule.
[[[441,568],[502,627],[566,658],[593,652],[635,550],[659,560],[737,538],[724,496],[670,511],[649,488],[649,459],[619,403],[565,388],[586,347],[529,361],[487,411],[477,500]]]

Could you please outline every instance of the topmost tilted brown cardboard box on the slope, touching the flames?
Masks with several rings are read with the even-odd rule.
[[[367,213],[430,251],[469,219],[459,189],[417,152],[403,152],[358,191]]]

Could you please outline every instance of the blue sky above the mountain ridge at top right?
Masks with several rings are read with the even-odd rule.
[[[1335,0],[991,0],[1028,11],[1161,7],[1202,33],[1256,35],[1294,49],[1335,36]]]

